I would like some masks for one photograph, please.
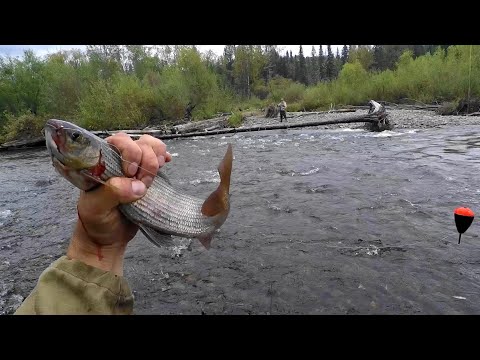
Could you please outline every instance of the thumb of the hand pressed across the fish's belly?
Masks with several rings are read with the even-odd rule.
[[[119,204],[140,199],[146,191],[145,184],[139,180],[113,177],[106,182],[105,186],[82,192],[78,200],[78,211],[82,213],[82,219],[95,221],[96,217],[109,213]]]

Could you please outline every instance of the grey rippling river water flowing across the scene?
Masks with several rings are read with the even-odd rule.
[[[205,198],[233,144],[231,212],[207,251],[140,233],[125,276],[138,314],[478,314],[480,126],[298,129],[167,140],[165,172]],[[79,191],[46,150],[0,153],[0,312],[65,253]]]

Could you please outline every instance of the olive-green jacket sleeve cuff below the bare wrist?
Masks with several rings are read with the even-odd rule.
[[[132,313],[124,277],[62,256],[43,271],[15,315]]]

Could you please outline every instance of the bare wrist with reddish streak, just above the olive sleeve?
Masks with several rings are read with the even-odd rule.
[[[101,270],[113,272],[115,275],[123,276],[125,250],[126,244],[101,245],[97,243],[90,238],[80,221],[78,221],[67,250],[67,257]]]

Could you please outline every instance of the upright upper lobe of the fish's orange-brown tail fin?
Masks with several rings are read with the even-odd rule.
[[[220,174],[220,185],[210,194],[202,205],[202,214],[205,216],[215,216],[221,213],[228,213],[230,176],[232,174],[233,151],[232,144],[228,144],[227,152],[223,160],[218,165],[218,173]]]

